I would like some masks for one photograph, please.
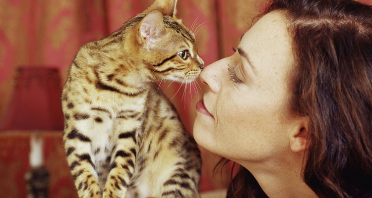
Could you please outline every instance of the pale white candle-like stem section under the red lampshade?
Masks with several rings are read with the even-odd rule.
[[[35,134],[31,135],[30,166],[32,168],[43,165],[43,139]]]

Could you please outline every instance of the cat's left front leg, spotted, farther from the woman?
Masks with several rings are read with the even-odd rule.
[[[65,129],[63,140],[67,162],[79,198],[101,198],[95,164],[92,160],[91,140],[74,127]]]

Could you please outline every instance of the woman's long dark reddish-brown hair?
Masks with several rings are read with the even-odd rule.
[[[305,183],[320,198],[372,198],[372,7],[273,0],[271,11],[285,16],[293,38],[289,111],[310,118]],[[227,197],[267,196],[240,167]]]

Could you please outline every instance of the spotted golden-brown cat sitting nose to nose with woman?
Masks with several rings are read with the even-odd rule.
[[[199,198],[200,151],[154,84],[204,65],[177,0],[155,0],[77,52],[62,91],[63,143],[80,198]]]

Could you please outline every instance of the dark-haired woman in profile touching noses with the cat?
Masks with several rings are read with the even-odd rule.
[[[241,165],[228,197],[372,197],[372,8],[274,0],[204,68],[197,143]]]

